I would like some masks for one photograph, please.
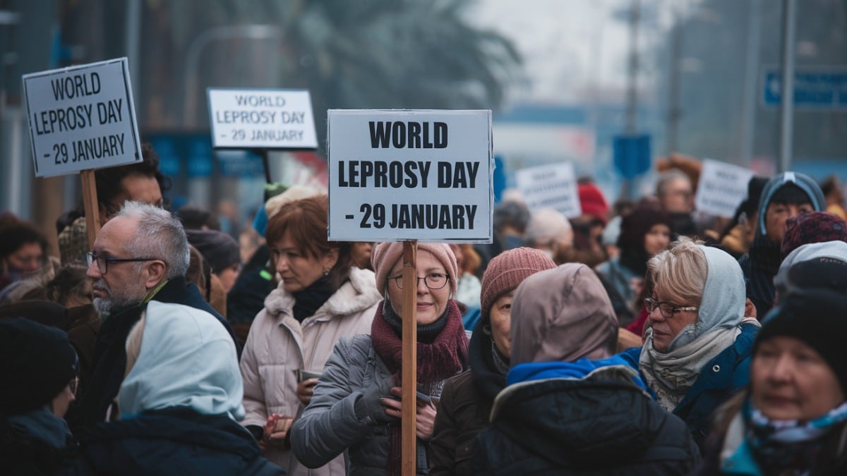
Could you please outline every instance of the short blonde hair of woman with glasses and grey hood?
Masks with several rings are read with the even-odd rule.
[[[701,244],[702,241],[682,236],[670,249],[650,258],[647,273],[653,280],[653,289],[662,289],[668,298],[678,300],[677,304],[700,306],[709,273]]]

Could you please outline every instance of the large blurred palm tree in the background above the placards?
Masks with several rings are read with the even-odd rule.
[[[174,46],[183,52],[216,26],[278,25],[279,44],[244,41],[209,48],[213,51],[203,58],[215,60],[202,62],[197,94],[206,86],[306,88],[321,144],[328,108],[499,108],[521,59],[507,38],[468,24],[471,5],[472,0],[159,4],[168,10]],[[258,58],[257,48],[263,50]],[[257,84],[257,68],[268,64],[278,69],[279,83]],[[185,91],[180,93],[184,100]],[[189,124],[207,123],[204,108],[193,113]]]

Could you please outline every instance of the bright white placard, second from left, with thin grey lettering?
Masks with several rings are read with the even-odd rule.
[[[208,88],[212,147],[318,147],[309,91]]]

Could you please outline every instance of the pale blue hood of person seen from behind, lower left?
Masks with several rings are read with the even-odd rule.
[[[122,418],[190,407],[241,419],[243,396],[235,344],[217,318],[181,304],[147,304],[141,350],[118,394]]]

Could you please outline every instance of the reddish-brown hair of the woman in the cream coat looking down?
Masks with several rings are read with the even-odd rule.
[[[352,241],[328,241],[329,198],[326,195],[310,196],[285,203],[280,211],[268,220],[265,238],[268,246],[282,240],[285,233],[291,236],[300,252],[311,257],[322,257],[338,250],[338,260],[329,270],[329,282],[340,286],[350,273],[352,266]],[[273,258],[272,258],[273,259]]]

